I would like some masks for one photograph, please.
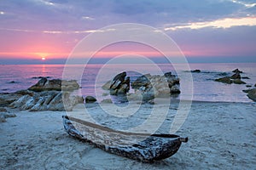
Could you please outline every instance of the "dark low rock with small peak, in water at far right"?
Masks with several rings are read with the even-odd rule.
[[[227,84],[231,84],[231,83],[235,83],[235,84],[246,84],[246,82],[241,81],[241,75],[240,73],[242,73],[242,71],[239,71],[238,69],[236,69],[235,74],[233,74],[231,77],[222,77],[222,78],[218,78],[215,79],[216,82],[223,82],[223,83],[227,83]]]

